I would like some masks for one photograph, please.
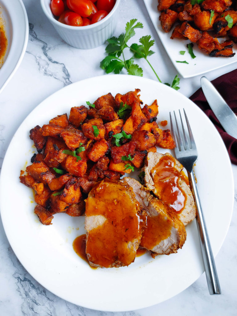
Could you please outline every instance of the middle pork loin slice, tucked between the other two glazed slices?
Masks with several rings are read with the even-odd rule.
[[[143,230],[140,246],[151,251],[154,258],[158,254],[177,252],[186,240],[184,224],[173,211],[161,200],[152,197],[149,190],[137,180],[125,177],[136,195],[140,206],[146,210],[147,225]]]

